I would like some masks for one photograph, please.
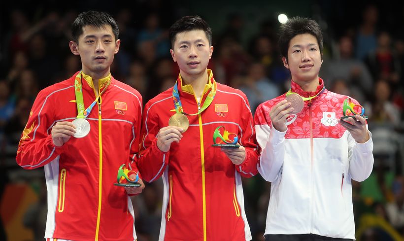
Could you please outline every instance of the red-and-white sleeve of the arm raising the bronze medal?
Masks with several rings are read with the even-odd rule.
[[[279,132],[271,126],[269,107],[260,104],[255,112],[254,125],[257,141],[261,148],[258,172],[262,177],[273,182],[282,169],[285,156],[285,132]]]

